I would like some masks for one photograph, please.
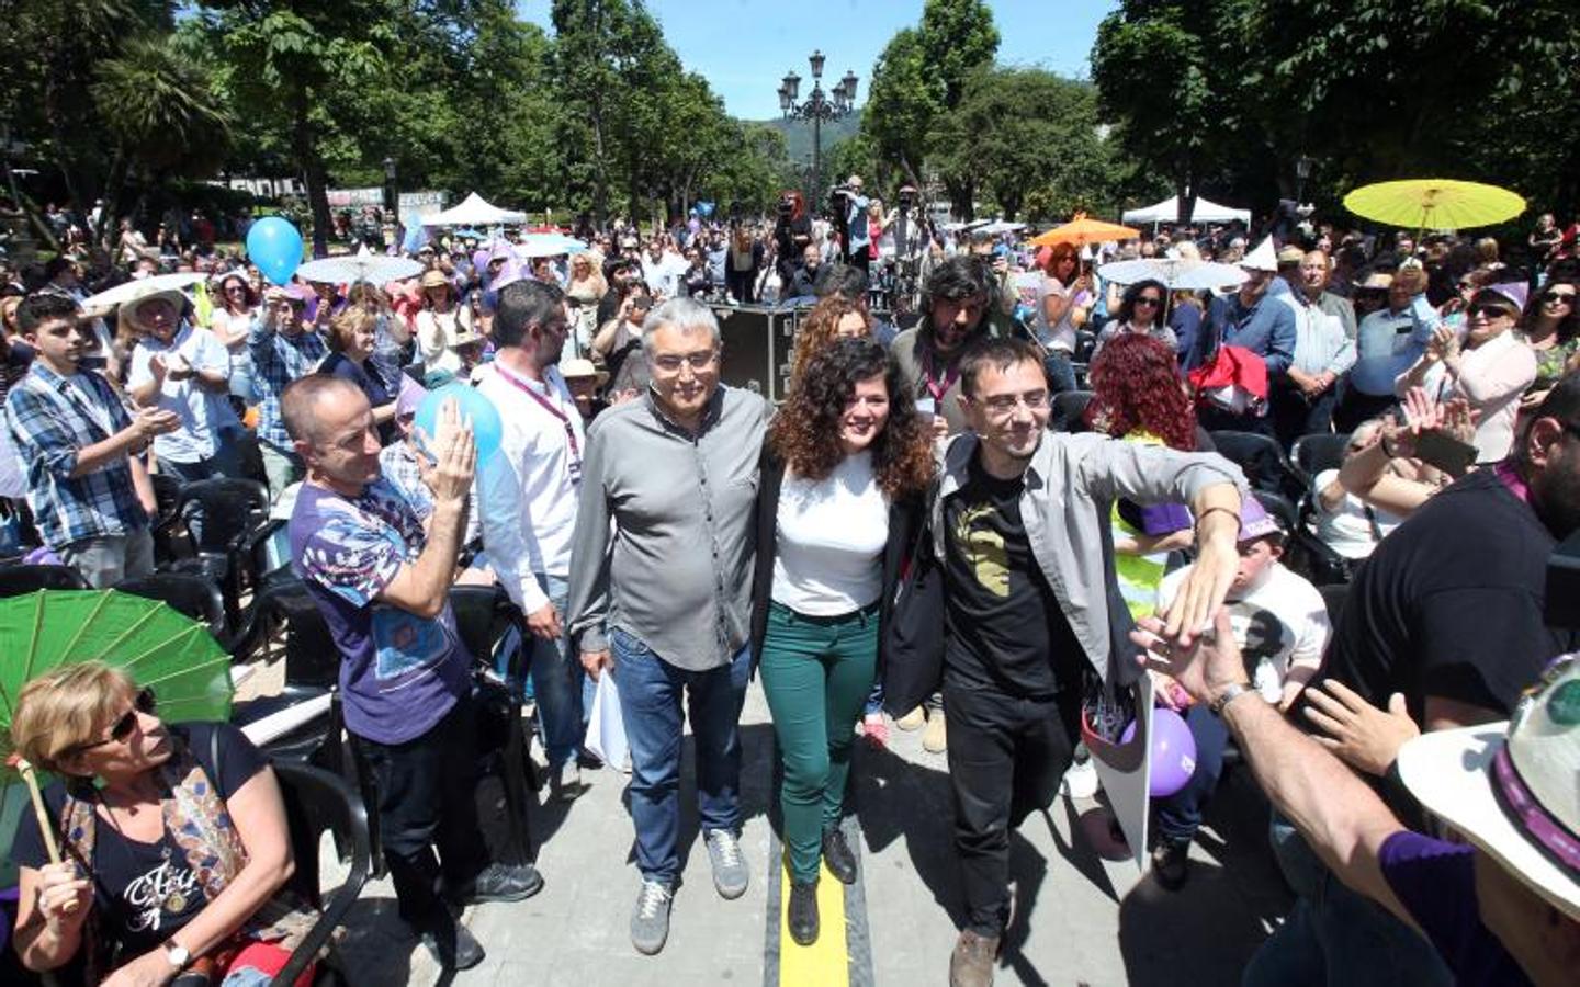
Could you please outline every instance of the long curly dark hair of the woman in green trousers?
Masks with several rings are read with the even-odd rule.
[[[890,415],[872,441],[872,472],[891,501],[921,493],[934,471],[932,431],[916,415],[915,403],[904,400],[899,366],[872,340],[834,340],[812,354],[799,385],[774,415],[769,448],[796,475],[826,478],[845,458],[839,418],[856,384],[878,376],[890,393]]]

